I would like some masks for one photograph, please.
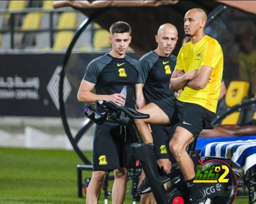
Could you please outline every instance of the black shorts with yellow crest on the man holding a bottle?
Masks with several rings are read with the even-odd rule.
[[[121,126],[96,126],[93,143],[92,171],[111,171],[117,168],[135,168],[136,159],[128,128]]]

